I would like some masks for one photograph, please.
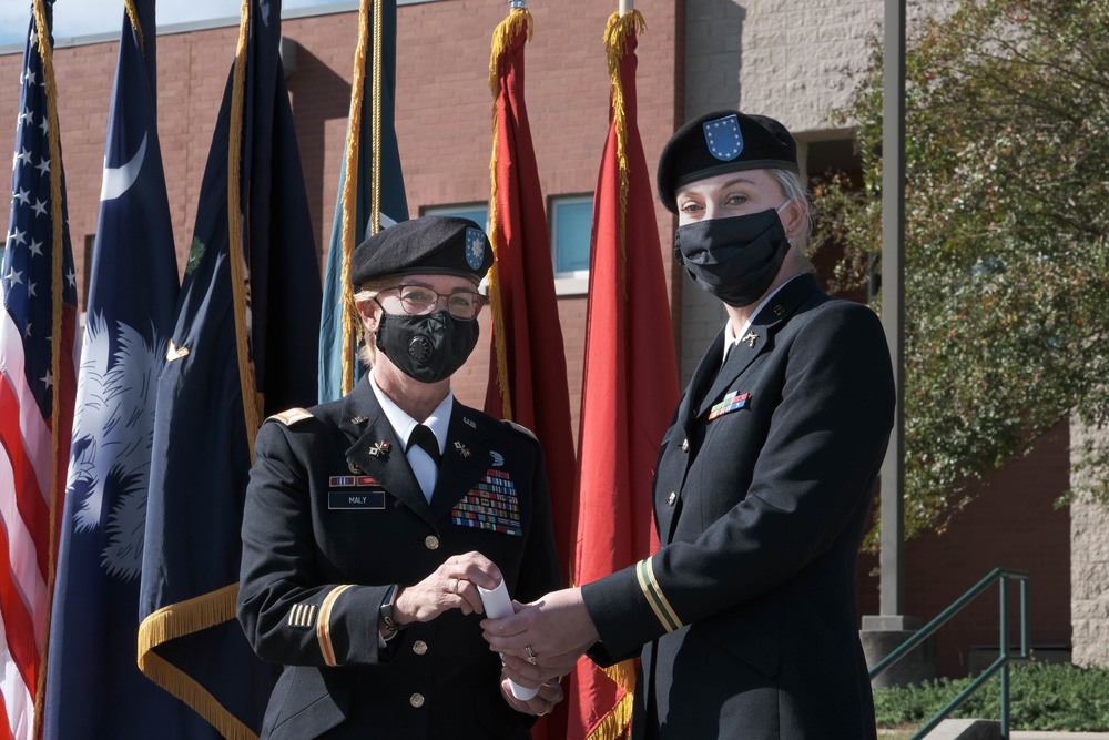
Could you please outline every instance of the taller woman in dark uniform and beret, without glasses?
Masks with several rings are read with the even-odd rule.
[[[893,424],[881,323],[817,285],[796,243],[796,143],[777,121],[689,122],[658,184],[678,261],[728,313],[662,442],[661,548],[484,622],[486,637],[521,683],[587,650],[640,657],[633,738],[874,738],[855,560]]]

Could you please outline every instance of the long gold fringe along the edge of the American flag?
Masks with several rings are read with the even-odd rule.
[[[61,428],[61,354],[62,354],[62,261],[65,255],[65,244],[62,241],[62,158],[61,138],[58,128],[58,84],[54,80],[54,55],[50,45],[50,28],[47,26],[45,0],[33,0],[34,31],[38,37],[39,57],[42,59],[42,83],[47,91],[47,142],[50,150],[50,161],[53,172],[50,175],[50,226],[51,226],[51,331],[55,342],[50,346],[50,372],[54,377],[50,398],[50,553],[47,556],[47,604],[42,626],[42,651],[39,656],[38,680],[34,687],[34,737],[42,737],[42,710],[45,700],[47,659],[50,651],[50,612],[54,601],[54,576],[58,571],[58,515],[62,506],[62,495],[59,486],[58,457],[61,454],[61,435],[70,434],[71,429]]]

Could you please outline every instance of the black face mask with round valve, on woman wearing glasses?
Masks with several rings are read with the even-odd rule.
[[[377,324],[377,348],[420,383],[454,375],[477,344],[477,321],[455,318],[446,311],[423,316],[383,312]]]

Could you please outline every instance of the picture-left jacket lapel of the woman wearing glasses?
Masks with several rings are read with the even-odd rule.
[[[344,398],[339,427],[355,439],[346,453],[352,470],[356,467],[373,476],[390,495],[428,523],[434,523],[424,491],[408,465],[405,447],[377,403],[368,376]]]

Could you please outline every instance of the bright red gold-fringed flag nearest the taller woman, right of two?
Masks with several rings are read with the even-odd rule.
[[[654,199],[635,122],[635,34],[644,29],[632,11],[613,13],[604,31],[612,84],[589,261],[573,561],[579,585],[658,549],[651,480],[679,399]],[[634,690],[634,661],[601,669],[582,658],[568,683],[566,737],[623,737]]]

